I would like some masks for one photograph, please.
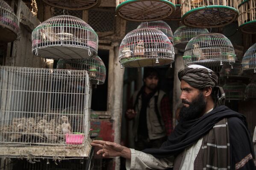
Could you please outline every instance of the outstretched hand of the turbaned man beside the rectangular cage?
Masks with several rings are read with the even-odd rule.
[[[125,159],[131,159],[130,149],[128,147],[122,146],[121,144],[102,140],[93,140],[91,145],[101,148],[97,151],[97,155],[101,154],[103,158],[122,156]]]

